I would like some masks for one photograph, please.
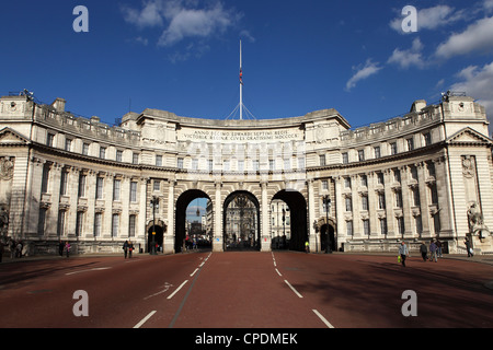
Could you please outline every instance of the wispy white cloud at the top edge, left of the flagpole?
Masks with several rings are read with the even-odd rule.
[[[225,33],[241,14],[225,9],[220,1],[199,8],[196,0],[146,0],[141,9],[122,7],[126,22],[139,28],[165,27],[158,46],[172,46],[184,38],[207,38]]]

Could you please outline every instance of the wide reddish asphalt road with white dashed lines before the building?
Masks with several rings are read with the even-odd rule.
[[[491,328],[492,280],[491,265],[416,257],[403,268],[344,254],[37,260],[0,265],[0,327]],[[88,292],[88,317],[72,313],[77,290]],[[401,313],[405,290],[417,295],[416,317]]]

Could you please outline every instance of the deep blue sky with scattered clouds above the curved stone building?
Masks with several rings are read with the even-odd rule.
[[[76,5],[89,32],[72,28]],[[404,33],[402,9],[417,10]],[[28,89],[113,124],[131,108],[225,119],[337,109],[353,127],[466,91],[493,116],[493,0],[8,1],[0,94]],[[130,106],[131,101],[131,106]]]

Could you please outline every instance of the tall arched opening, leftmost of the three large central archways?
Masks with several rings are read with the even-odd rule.
[[[204,247],[210,247],[210,237],[213,237],[213,231],[211,225],[210,229],[205,229],[202,225],[200,222],[200,229],[197,229],[195,225],[192,226],[192,224],[187,225],[186,220],[186,210],[188,206],[197,198],[206,198],[208,201],[210,201],[210,198],[207,196],[206,192],[199,190],[199,189],[190,189],[185,192],[183,192],[179,199],[176,200],[176,207],[175,207],[175,237],[174,237],[174,252],[181,253],[184,248],[192,248],[194,247],[193,242],[195,241],[196,246]],[[211,206],[207,206],[207,208],[211,208]],[[211,221],[211,211],[209,212],[209,209],[206,209],[199,213],[198,217],[205,214],[206,221]],[[209,218],[210,217],[210,218]],[[210,219],[210,220],[209,220]],[[198,220],[198,219],[197,219]],[[193,232],[192,232],[193,229]],[[192,235],[191,235],[192,233]],[[206,240],[205,236],[209,237]]]

